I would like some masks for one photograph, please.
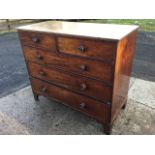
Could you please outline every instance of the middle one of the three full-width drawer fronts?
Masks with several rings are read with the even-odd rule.
[[[28,63],[28,68],[33,77],[54,83],[105,103],[111,102],[112,90],[101,82],[49,69],[35,63]]]

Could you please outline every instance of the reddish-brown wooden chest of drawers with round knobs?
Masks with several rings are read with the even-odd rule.
[[[48,21],[18,28],[34,98],[55,99],[103,124],[127,103],[137,26]]]

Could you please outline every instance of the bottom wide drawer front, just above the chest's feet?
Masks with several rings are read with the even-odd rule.
[[[38,79],[31,78],[31,84],[33,91],[38,94],[59,100],[64,104],[84,112],[102,122],[109,121],[110,105],[78,95]]]

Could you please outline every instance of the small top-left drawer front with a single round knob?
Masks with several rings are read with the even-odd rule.
[[[40,47],[55,52],[55,38],[50,34],[19,31],[22,45]]]

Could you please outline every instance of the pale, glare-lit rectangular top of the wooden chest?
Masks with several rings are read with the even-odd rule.
[[[85,36],[108,40],[120,40],[132,31],[138,29],[136,25],[96,24],[64,21],[46,21],[27,26],[18,30],[38,31],[53,34]]]

